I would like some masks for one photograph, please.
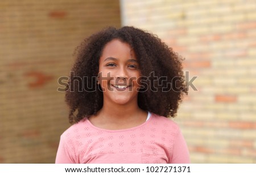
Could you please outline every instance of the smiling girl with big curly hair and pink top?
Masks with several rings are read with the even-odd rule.
[[[175,117],[187,93],[181,58],[157,36],[109,27],[79,46],[56,163],[189,163]]]

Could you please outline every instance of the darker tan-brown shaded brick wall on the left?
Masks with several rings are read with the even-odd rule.
[[[73,51],[120,27],[118,0],[0,1],[0,163],[54,163],[67,127],[64,93]]]

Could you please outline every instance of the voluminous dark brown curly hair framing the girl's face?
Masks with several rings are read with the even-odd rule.
[[[119,39],[131,46],[138,59],[141,75],[146,78],[144,82],[147,87],[138,92],[139,108],[159,116],[175,117],[182,96],[188,93],[181,65],[183,58],[158,36],[143,29],[125,26],[119,29],[102,29],[82,41],[75,50],[73,76],[69,77],[65,89],[65,101],[70,108],[69,122],[79,122],[102,108],[103,92],[96,83],[96,77],[102,50],[113,39]],[[81,82],[82,77],[86,77],[87,81]],[[155,80],[156,77],[158,80],[164,79],[159,83]],[[93,86],[97,88],[89,88]],[[167,90],[163,91],[164,88]]]

